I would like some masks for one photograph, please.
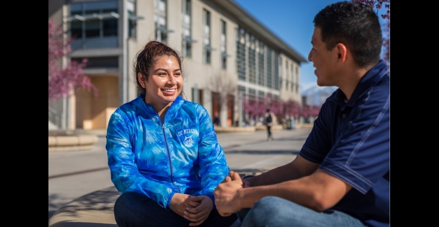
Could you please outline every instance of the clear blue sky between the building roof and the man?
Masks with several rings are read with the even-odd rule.
[[[235,0],[244,10],[256,18],[271,32],[308,59],[312,48],[314,16],[334,0]],[[381,24],[381,13],[378,13]],[[316,85],[312,62],[301,64],[300,86],[304,91]]]

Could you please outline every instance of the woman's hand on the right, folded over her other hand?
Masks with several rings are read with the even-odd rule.
[[[184,218],[192,221],[190,226],[197,226],[203,223],[213,209],[213,201],[208,196],[191,196],[191,201],[199,203],[197,207],[188,207],[184,211]]]

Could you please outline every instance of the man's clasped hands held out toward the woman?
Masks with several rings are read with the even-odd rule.
[[[238,190],[244,187],[244,183],[238,173],[231,171],[229,176],[219,184],[213,195],[215,196],[215,205],[221,216],[230,216],[241,210],[239,199],[237,198]]]

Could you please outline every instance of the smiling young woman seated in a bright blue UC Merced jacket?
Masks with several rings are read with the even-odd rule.
[[[237,219],[215,209],[213,190],[230,169],[206,109],[179,96],[181,65],[172,48],[146,44],[134,64],[141,94],[109,120],[119,226],[230,226]]]

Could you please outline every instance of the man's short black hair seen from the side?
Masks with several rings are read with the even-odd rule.
[[[327,6],[314,18],[328,50],[345,44],[360,67],[376,64],[381,52],[382,34],[372,7],[362,3],[340,2]]]

